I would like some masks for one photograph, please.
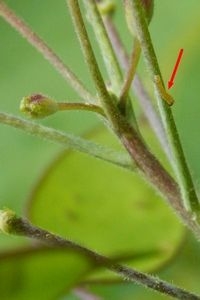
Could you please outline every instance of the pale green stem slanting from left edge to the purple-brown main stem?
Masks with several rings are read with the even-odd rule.
[[[53,128],[42,126],[1,112],[0,123],[21,129],[33,136],[58,143],[66,149],[73,149],[75,151],[86,153],[127,169],[134,168],[133,163],[125,153],[114,151],[113,149],[90,142],[81,137],[66,134]]]

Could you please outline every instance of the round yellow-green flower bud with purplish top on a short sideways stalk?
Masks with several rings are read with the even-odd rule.
[[[47,96],[35,94],[22,99],[20,111],[31,118],[45,118],[58,111],[58,104]]]

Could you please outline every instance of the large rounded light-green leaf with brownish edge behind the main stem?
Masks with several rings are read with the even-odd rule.
[[[108,139],[114,143],[98,133],[98,141]],[[73,152],[63,153],[38,182],[29,218],[141,270],[165,263],[183,236],[174,213],[139,176]]]

